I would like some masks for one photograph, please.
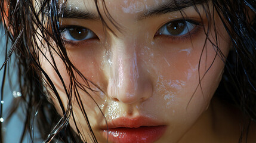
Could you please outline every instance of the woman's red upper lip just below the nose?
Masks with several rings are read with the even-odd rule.
[[[141,126],[163,126],[156,119],[150,117],[138,116],[134,118],[119,117],[118,119],[110,120],[101,129],[114,129],[114,128],[139,128]]]

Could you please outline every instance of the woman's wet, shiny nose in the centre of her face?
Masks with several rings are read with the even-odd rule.
[[[125,104],[141,102],[152,96],[152,82],[147,70],[142,68],[141,59],[136,52],[138,47],[135,43],[130,43],[115,43],[112,48],[112,65],[107,86],[109,97]]]

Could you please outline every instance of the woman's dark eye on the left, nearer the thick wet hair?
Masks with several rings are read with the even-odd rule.
[[[66,41],[84,41],[87,39],[97,38],[94,32],[82,26],[72,26],[61,30],[61,36]]]

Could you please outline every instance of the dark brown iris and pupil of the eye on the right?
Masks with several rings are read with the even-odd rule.
[[[177,21],[172,21],[167,24],[166,29],[171,35],[180,35],[186,26],[186,21],[185,20],[177,20]]]

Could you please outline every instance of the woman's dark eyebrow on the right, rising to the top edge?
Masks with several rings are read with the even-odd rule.
[[[138,16],[138,20],[143,20],[156,15],[172,13],[175,11],[183,10],[184,8],[192,7],[199,4],[204,4],[208,0],[172,0],[164,2],[155,8],[144,11],[143,14]]]

